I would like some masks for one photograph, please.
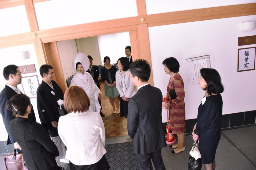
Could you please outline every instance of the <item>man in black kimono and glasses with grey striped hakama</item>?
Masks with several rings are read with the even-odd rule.
[[[65,159],[66,149],[58,134],[59,121],[59,105],[57,101],[63,100],[63,92],[58,84],[53,81],[54,72],[52,66],[44,64],[39,69],[40,75],[43,78],[42,83],[38,86],[37,95],[37,110],[41,124],[50,133],[52,141],[58,147],[61,162],[69,163]]]

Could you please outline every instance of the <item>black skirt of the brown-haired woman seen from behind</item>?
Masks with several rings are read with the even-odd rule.
[[[69,161],[69,166],[70,166],[70,170],[109,170],[111,169],[110,166],[108,165],[108,161],[105,155],[103,155],[103,157],[95,164],[75,165]]]

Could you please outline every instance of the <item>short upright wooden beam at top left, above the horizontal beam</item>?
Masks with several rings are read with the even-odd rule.
[[[28,16],[28,23],[30,27],[30,31],[38,31],[38,24],[36,19],[36,12],[33,4],[33,0],[25,0],[24,1],[27,16]]]

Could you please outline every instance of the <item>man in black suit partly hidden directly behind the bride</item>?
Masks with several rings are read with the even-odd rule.
[[[100,89],[100,83],[98,80],[100,73],[99,73],[98,66],[92,65],[92,60],[93,60],[92,56],[88,55],[87,57],[89,58],[89,61],[90,61],[89,69],[87,70],[87,72],[92,75],[94,83]],[[101,100],[99,100],[99,103],[100,103],[100,107],[101,107]],[[100,108],[100,116],[105,117],[105,115],[101,112],[101,110],[102,110],[102,107]]]

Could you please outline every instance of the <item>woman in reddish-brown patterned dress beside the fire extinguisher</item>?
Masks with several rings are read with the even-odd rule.
[[[171,76],[167,86],[167,95],[165,101],[165,109],[169,110],[170,125],[172,133],[177,134],[178,143],[170,145],[174,149],[172,153],[179,153],[185,151],[184,140],[186,130],[185,119],[185,92],[184,83],[179,72],[180,64],[174,58],[170,57],[163,61],[164,71]]]

